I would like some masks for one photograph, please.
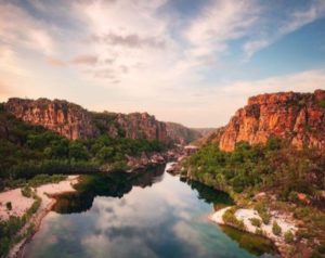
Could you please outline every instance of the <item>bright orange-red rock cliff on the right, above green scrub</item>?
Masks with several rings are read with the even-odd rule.
[[[325,91],[252,96],[231,118],[218,141],[221,150],[230,152],[237,142],[263,144],[270,137],[287,139],[298,149],[325,150]]]

